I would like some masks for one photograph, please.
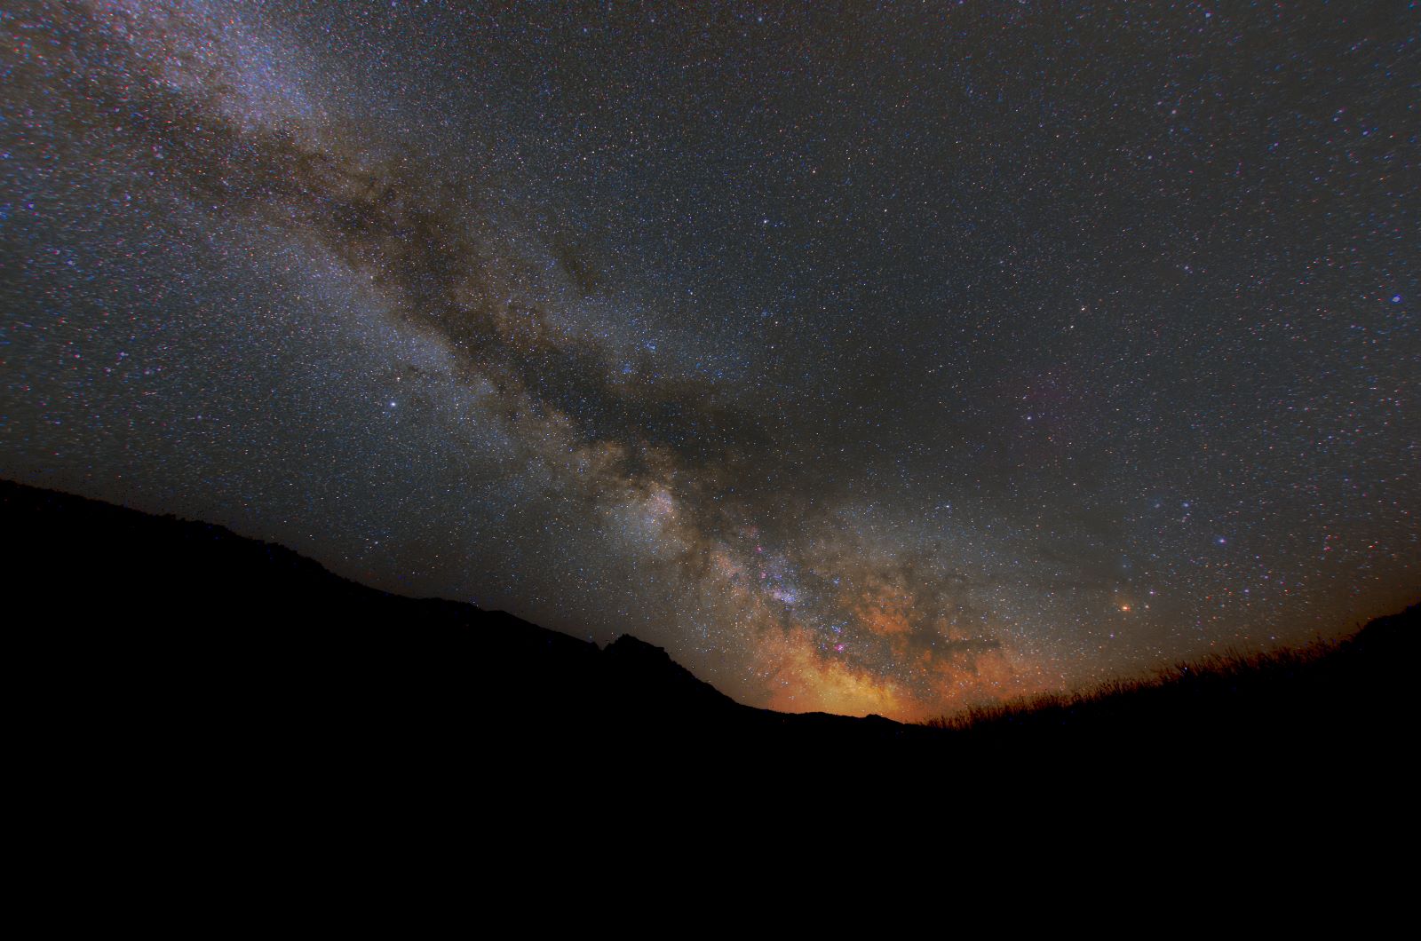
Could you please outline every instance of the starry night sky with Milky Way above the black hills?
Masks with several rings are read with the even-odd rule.
[[[925,718],[1421,588],[1414,3],[0,33],[3,476],[790,711]]]

